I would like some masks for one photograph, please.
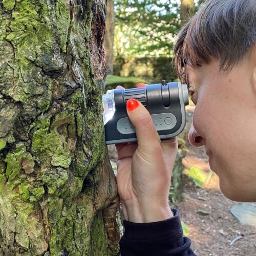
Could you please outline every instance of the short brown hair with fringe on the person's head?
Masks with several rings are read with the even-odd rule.
[[[256,43],[256,0],[209,0],[180,31],[175,69],[186,81],[186,65],[220,59],[220,69],[236,65]]]

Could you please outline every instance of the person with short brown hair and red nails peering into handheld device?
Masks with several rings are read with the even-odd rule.
[[[188,140],[205,146],[223,194],[256,201],[256,1],[211,0],[181,30],[177,73],[196,109]],[[122,255],[194,255],[179,212],[168,206],[176,138],[160,141],[150,114],[131,99],[137,143],[116,145],[124,214]]]

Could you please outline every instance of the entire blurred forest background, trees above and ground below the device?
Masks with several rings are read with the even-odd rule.
[[[138,82],[177,80],[172,65],[177,34],[204,2],[111,0],[108,18],[112,23],[107,20],[105,40],[106,90],[120,84],[130,88]],[[255,255],[256,204],[234,203],[222,195],[204,148],[194,148],[187,141],[194,110],[190,101],[187,124],[178,137],[179,153],[169,193],[172,207],[180,210],[184,234],[191,238],[198,255]],[[115,169],[115,147],[109,146],[109,155]],[[247,216],[246,222],[242,215]]]

